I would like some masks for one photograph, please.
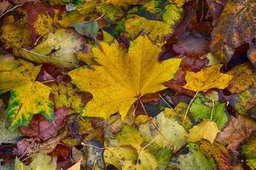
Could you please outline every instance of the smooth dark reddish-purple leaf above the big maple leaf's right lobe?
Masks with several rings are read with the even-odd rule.
[[[194,35],[182,35],[177,39],[177,43],[173,44],[173,50],[177,54],[183,54],[188,57],[200,57],[209,52],[209,43],[203,37],[195,37]]]

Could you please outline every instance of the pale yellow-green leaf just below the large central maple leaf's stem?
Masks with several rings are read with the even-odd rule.
[[[174,147],[174,150],[179,150],[186,143],[185,129],[176,120],[166,117],[164,112],[157,115],[153,122],[158,130],[151,122],[146,122],[139,127],[146,142],[149,143],[155,138],[153,144],[158,148]]]

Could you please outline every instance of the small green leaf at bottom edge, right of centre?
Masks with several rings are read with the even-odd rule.
[[[158,169],[165,170],[171,160],[171,157],[172,157],[172,150],[168,150],[168,149],[159,150],[155,155]]]

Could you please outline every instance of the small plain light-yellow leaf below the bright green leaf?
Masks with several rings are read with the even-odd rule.
[[[187,135],[188,140],[191,142],[197,142],[201,139],[207,139],[213,143],[218,133],[218,127],[215,122],[210,120],[204,120],[200,124],[192,127]]]

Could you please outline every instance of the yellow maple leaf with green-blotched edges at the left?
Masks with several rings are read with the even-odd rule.
[[[40,68],[26,63],[12,71],[0,71],[0,93],[10,90],[6,114],[13,128],[26,126],[38,113],[50,121],[54,116],[53,104],[49,100],[51,89],[35,82]]]

